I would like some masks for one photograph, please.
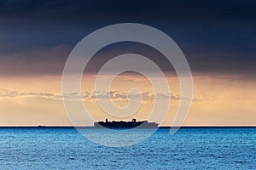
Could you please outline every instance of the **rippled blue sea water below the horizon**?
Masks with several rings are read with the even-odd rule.
[[[0,169],[256,169],[256,128],[159,129],[124,148],[72,128],[1,128],[0,144]]]

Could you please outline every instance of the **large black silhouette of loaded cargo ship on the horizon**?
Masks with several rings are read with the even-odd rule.
[[[124,122],[124,121],[108,122],[108,119],[106,119],[105,122],[94,122],[94,127],[108,127],[108,128],[133,128],[133,127],[153,128],[153,127],[158,127],[158,125],[159,124],[155,122],[148,122],[148,121],[137,122],[136,119],[132,119],[131,122]]]

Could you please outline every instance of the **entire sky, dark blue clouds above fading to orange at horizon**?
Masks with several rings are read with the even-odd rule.
[[[70,125],[61,99],[68,55],[92,31],[126,22],[165,32],[186,56],[194,97],[184,125],[256,126],[255,7],[253,1],[220,0],[0,1],[0,126]],[[171,92],[159,98],[172,99],[164,123],[170,125],[182,99],[175,71],[157,50],[136,42],[109,45],[91,59],[82,80],[84,105],[96,121],[117,119],[97,105],[96,93],[104,93],[93,87],[102,65],[126,53],[143,54],[165,72]],[[147,119],[154,91],[145,77],[119,75],[107,93],[125,106],[130,88],[141,90],[143,105],[125,120]]]

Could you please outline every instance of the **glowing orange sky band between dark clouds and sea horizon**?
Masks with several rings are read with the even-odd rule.
[[[83,89],[93,92],[94,76],[84,77]],[[177,77],[168,77],[172,94],[179,95]],[[61,100],[61,77],[2,77],[0,88],[0,124],[13,125],[70,125]],[[239,76],[194,76],[194,99],[187,126],[226,126],[256,125],[255,81],[241,81]],[[130,88],[138,88],[142,93],[153,93],[153,89],[144,77],[138,75],[120,75],[115,79],[111,90],[126,93]],[[127,104],[125,99],[113,99],[116,105]],[[96,99],[84,98],[85,105],[96,121],[115,119],[108,116],[97,105]],[[164,125],[171,125],[176,114],[179,99],[172,99],[170,111]],[[135,115],[139,120],[147,119],[153,101],[143,99],[143,105]],[[157,120],[155,120],[157,122]],[[84,122],[86,124],[86,121]],[[90,125],[90,124],[86,124]]]

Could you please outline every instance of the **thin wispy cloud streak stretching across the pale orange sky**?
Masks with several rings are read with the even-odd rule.
[[[143,101],[163,101],[171,99],[173,100],[180,100],[185,99],[180,95],[177,94],[154,94],[152,92],[142,92],[141,94],[137,94],[136,92],[128,94],[127,92],[121,92],[117,90],[113,91],[88,91],[84,90],[81,92],[81,94],[78,93],[68,93],[68,94],[53,94],[49,92],[32,92],[32,91],[26,91],[21,89],[11,89],[11,88],[0,88],[0,98],[9,97],[9,98],[15,98],[15,97],[39,97],[39,98],[47,98],[47,99],[58,99],[62,100],[63,96],[66,97],[66,99],[79,99],[82,98],[83,100],[96,100],[96,99],[113,99],[116,101],[126,101],[128,99],[142,99]],[[142,98],[140,98],[140,96]],[[194,102],[201,102],[205,100],[214,100],[216,99],[215,96],[207,96],[207,95],[201,95],[199,97],[193,98]],[[238,99],[238,98],[236,98]],[[241,97],[239,98],[241,99]]]

